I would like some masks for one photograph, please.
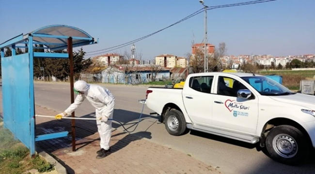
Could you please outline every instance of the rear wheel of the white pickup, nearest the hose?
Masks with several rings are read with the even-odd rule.
[[[165,116],[164,125],[171,135],[179,136],[186,132],[186,121],[183,113],[171,109]]]

